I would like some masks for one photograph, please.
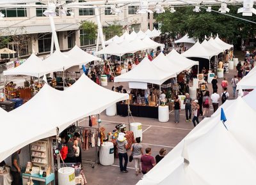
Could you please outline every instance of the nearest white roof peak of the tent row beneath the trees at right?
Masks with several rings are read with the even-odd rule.
[[[186,52],[181,54],[184,57],[198,57],[204,59],[211,59],[212,54],[208,52],[202,45],[200,45],[199,41],[193,45],[193,47],[186,50]]]

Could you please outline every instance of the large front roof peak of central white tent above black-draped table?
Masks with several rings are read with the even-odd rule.
[[[154,74],[154,75],[153,75]],[[157,68],[145,57],[136,68],[114,78],[115,82],[145,82],[161,85],[172,78],[170,73]]]

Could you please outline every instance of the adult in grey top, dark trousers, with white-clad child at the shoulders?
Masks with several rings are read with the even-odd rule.
[[[120,172],[127,173],[127,163],[128,163],[128,154],[127,154],[127,147],[128,142],[124,137],[124,128],[121,129],[121,132],[118,134],[118,138],[116,140],[117,145],[117,152],[119,158],[119,165],[120,165]],[[123,165],[123,158],[124,158],[124,165]]]

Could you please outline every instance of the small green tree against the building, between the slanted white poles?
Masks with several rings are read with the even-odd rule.
[[[80,22],[79,29],[83,29],[86,38],[95,40],[97,38],[98,26],[92,21],[83,20]]]

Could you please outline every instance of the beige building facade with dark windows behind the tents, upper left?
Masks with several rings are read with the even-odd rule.
[[[140,29],[146,31],[148,29],[148,15],[136,14],[137,8],[138,6],[124,6],[122,13],[118,16],[113,15],[108,7],[99,8],[102,27],[116,22],[124,27],[124,31],[125,29],[130,32],[132,29],[136,32]],[[19,57],[29,56],[32,52],[42,57],[49,54],[51,50],[51,26],[49,18],[43,15],[46,8],[6,9],[0,7],[0,9],[1,13],[4,14],[4,18],[0,19],[0,36],[21,36],[19,39],[22,40],[22,48],[19,50]],[[86,50],[95,50],[96,40],[88,40],[83,30],[79,29],[80,22],[83,20],[90,20],[97,24],[93,8],[77,8],[65,14],[62,14],[60,10],[56,12],[54,24],[61,51],[69,50],[74,45]],[[6,45],[12,50],[17,50],[17,43],[14,39]],[[12,54],[9,57],[17,57],[17,54]]]

